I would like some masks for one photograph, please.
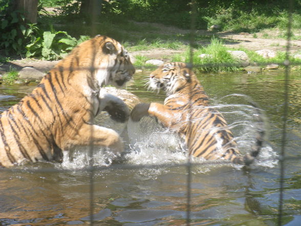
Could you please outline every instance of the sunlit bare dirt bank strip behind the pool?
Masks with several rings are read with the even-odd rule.
[[[176,35],[176,34],[187,34],[189,30],[183,30],[175,27],[166,27],[160,24],[152,24],[159,29],[159,33]],[[243,47],[249,50],[260,50],[260,49],[270,49],[274,51],[286,51],[287,40],[284,38],[278,38],[280,31],[274,30],[269,32],[261,32],[256,34],[249,33],[230,33],[230,32],[212,32],[198,30],[197,34],[199,35],[214,35],[222,38],[224,40],[224,45],[228,48],[239,48]],[[263,36],[268,36],[264,38]],[[201,45],[208,45],[208,40],[200,41]],[[300,50],[301,40],[292,40],[290,42],[292,53]],[[147,58],[155,58],[166,60],[168,57],[172,56],[175,53],[181,53],[184,50],[170,50],[170,49],[152,49],[147,51],[136,51],[130,52],[131,55],[143,55]],[[46,60],[35,60],[35,59],[18,59],[12,60],[3,65],[0,64],[0,74],[4,74],[9,71],[10,67],[14,67],[17,70],[22,69],[23,67],[30,66],[36,68],[41,72],[49,71],[57,61],[46,61]]]

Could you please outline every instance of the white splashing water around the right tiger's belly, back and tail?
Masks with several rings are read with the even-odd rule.
[[[216,104],[210,108],[218,110],[228,121],[229,129],[234,133],[234,139],[242,154],[251,151],[250,147],[255,142],[257,124],[254,117],[254,107],[249,105]],[[126,155],[131,164],[164,164],[185,163],[187,151],[184,141],[175,133],[162,128],[155,119],[143,117],[140,122],[129,121],[127,125],[130,138],[131,152]],[[273,168],[277,164],[277,154],[270,146],[262,148],[254,166]],[[192,162],[200,163],[195,172],[207,172],[218,166],[216,163],[202,166],[206,161],[202,158],[191,158]],[[229,163],[230,166],[241,169],[242,166]]]

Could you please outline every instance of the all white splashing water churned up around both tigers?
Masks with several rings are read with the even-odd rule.
[[[255,141],[256,123],[253,116],[254,109],[248,105],[231,105],[219,104],[217,101],[210,108],[218,110],[228,121],[229,129],[234,134],[234,139],[238,143],[238,148],[242,154],[250,151],[250,147]],[[106,125],[103,125],[106,126]],[[111,124],[110,124],[111,126]],[[126,151],[123,153],[123,161],[126,165],[164,165],[165,163],[186,163],[188,159],[187,148],[184,140],[174,132],[168,131],[157,123],[154,118],[143,117],[139,122],[134,122],[131,119],[126,125],[117,128],[119,133],[127,132],[125,141]],[[115,128],[112,128],[115,129]],[[111,166],[116,159],[116,155],[104,149],[95,150],[94,165],[95,166]],[[213,168],[225,166],[225,164],[210,163],[202,158],[192,157],[193,163],[200,163],[198,167],[193,167],[194,173],[205,173]],[[202,166],[202,163],[206,162]],[[241,169],[242,166],[237,166],[229,163],[230,166]],[[255,160],[253,166],[261,166],[265,168],[273,168],[277,165],[277,154],[270,147],[265,145],[262,148],[259,157]],[[78,169],[89,166],[89,151],[77,150],[73,153],[64,155],[62,167],[66,169]],[[138,170],[142,177],[156,177],[170,169],[141,169]]]

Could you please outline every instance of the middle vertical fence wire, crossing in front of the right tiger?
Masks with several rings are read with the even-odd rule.
[[[191,70],[193,70],[193,44],[195,42],[195,33],[196,33],[196,2],[194,0],[191,1],[191,24],[190,24],[190,40],[189,40],[189,64],[191,64]],[[191,86],[189,86],[191,89]],[[192,104],[191,104],[191,90],[189,91],[189,119],[188,119],[188,131],[191,127],[191,111],[192,111]],[[188,140],[188,142],[190,142]],[[188,157],[187,157],[187,209],[186,209],[186,225],[190,225],[190,201],[191,201],[191,150],[188,150]]]

